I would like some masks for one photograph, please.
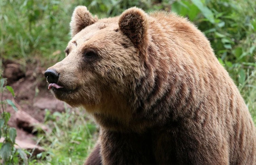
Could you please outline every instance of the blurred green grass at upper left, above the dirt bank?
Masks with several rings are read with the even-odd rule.
[[[52,54],[64,50],[70,39],[68,25],[73,7],[69,6],[68,1],[61,6],[60,1],[50,0],[1,1],[1,57],[22,60],[24,65],[35,56],[48,61],[63,58],[63,54]]]

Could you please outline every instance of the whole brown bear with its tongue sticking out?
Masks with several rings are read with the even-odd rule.
[[[195,25],[132,7],[98,19],[78,6],[49,89],[100,127],[85,164],[256,164],[251,115]]]

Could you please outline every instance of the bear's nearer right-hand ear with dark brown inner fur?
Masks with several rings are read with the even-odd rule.
[[[147,14],[140,8],[132,7],[124,11],[120,16],[118,25],[135,47],[140,49],[147,44]]]

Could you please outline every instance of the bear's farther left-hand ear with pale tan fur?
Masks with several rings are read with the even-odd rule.
[[[77,6],[72,14],[70,22],[71,36],[74,37],[78,32],[98,21],[93,17],[85,6]]]

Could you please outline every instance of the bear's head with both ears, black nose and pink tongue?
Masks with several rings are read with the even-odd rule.
[[[66,57],[45,71],[48,89],[58,99],[88,111],[103,106],[125,109],[127,95],[143,75],[147,17],[133,7],[118,17],[98,19],[85,6],[76,7]]]

